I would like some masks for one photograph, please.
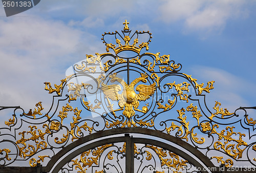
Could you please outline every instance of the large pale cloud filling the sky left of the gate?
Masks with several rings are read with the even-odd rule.
[[[72,61],[81,32],[32,16],[0,20],[0,25],[0,105],[50,105],[44,82],[65,78],[65,62]]]

